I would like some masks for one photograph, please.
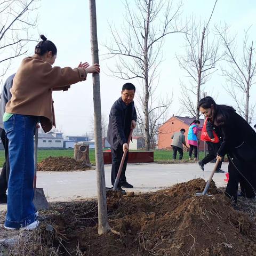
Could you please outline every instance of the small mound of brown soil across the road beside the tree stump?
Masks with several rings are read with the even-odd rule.
[[[81,170],[86,171],[90,169],[90,165],[85,162],[76,162],[74,158],[71,157],[48,157],[42,162],[37,164],[38,171],[51,171],[51,172],[63,172],[63,171],[74,171]]]

